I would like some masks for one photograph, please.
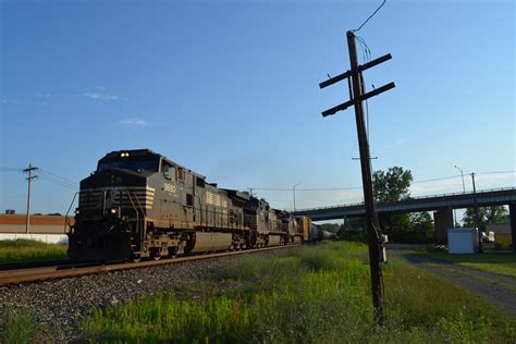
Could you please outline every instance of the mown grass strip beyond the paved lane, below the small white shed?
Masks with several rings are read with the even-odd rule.
[[[418,253],[419,257],[443,261],[465,268],[482,270],[516,279],[516,255],[492,253],[477,255],[450,255],[447,253]]]

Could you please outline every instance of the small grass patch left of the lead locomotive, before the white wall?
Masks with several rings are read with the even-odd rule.
[[[0,241],[0,263],[66,259],[67,245],[33,239]]]

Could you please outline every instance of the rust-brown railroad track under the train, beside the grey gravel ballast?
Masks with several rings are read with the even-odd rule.
[[[94,273],[106,273],[112,271],[142,269],[148,267],[163,266],[170,263],[176,263],[182,261],[192,261],[199,259],[210,259],[228,256],[236,256],[244,254],[260,253],[266,250],[274,250],[282,248],[291,248],[300,246],[299,244],[286,245],[286,246],[274,246],[257,249],[226,251],[226,253],[214,253],[204,254],[197,256],[184,256],[177,258],[169,258],[162,260],[145,260],[139,262],[112,262],[112,263],[99,263],[99,262],[87,262],[87,263],[66,263],[44,266],[44,267],[24,267],[19,269],[0,270],[0,286],[9,284],[21,284],[28,282],[41,282],[56,279],[64,278],[77,278]]]

